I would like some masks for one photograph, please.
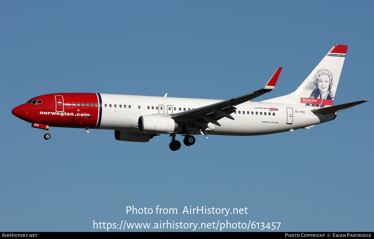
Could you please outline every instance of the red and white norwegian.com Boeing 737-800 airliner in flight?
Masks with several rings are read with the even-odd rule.
[[[334,120],[337,112],[367,102],[332,106],[348,46],[335,45],[295,91],[260,102],[249,101],[274,89],[282,67],[266,85],[228,100],[133,96],[104,93],[56,93],[31,98],[12,114],[31,127],[114,130],[116,140],[148,142],[160,134],[172,137],[169,148],[181,148],[176,135],[191,146],[194,135],[253,136],[310,129]]]

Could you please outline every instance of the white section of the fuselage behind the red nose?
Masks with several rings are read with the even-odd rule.
[[[102,118],[99,128],[108,130],[137,131],[138,119],[142,115],[175,114],[222,101],[119,94],[100,95]],[[272,134],[307,128],[335,118],[335,114],[318,116],[313,114],[311,110],[316,109],[313,106],[286,103],[247,101],[235,107],[237,110],[232,114],[235,120],[222,118],[218,120],[221,126],[209,123],[211,129],[206,128],[203,133],[232,136]],[[191,134],[200,133],[191,132]]]

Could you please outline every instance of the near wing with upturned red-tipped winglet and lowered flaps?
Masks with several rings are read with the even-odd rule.
[[[217,102],[212,105],[206,105],[189,111],[172,114],[172,118],[176,122],[192,122],[195,125],[205,128],[210,128],[206,122],[211,122],[212,124],[221,126],[217,121],[223,117],[234,120],[234,118],[230,115],[236,110],[234,106],[254,99],[255,97],[270,92],[272,89],[274,89],[281,71],[282,67],[279,67],[266,85],[260,90],[256,90],[243,96],[235,97],[233,99]]]

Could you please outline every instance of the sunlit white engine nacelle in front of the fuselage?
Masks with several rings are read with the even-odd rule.
[[[178,128],[178,124],[167,116],[162,115],[142,115],[138,120],[139,131],[150,134],[173,133]]]

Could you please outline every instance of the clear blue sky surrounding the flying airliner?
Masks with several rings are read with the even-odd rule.
[[[105,230],[93,220],[373,231],[372,101],[310,130],[197,136],[175,152],[167,135],[119,142],[109,130],[51,128],[46,141],[11,114],[61,92],[229,99],[283,66],[276,88],[257,98],[265,100],[293,91],[335,44],[349,47],[334,104],[373,100],[373,9],[373,1],[0,1],[0,231]],[[132,205],[153,214],[126,214]],[[156,214],[157,205],[178,214]],[[248,214],[182,214],[190,206]]]

